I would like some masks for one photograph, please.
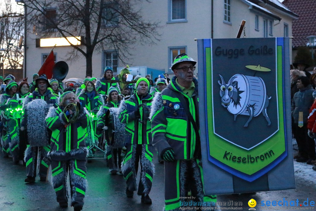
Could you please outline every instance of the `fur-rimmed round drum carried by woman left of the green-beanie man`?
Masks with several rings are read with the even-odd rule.
[[[125,138],[125,124],[119,121],[119,109],[109,108],[106,111],[104,131],[106,143],[114,148],[122,148]]]

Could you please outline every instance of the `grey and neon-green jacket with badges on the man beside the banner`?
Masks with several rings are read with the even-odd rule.
[[[173,149],[177,160],[190,160],[196,157],[197,134],[188,121],[179,94],[184,96],[190,113],[198,125],[198,81],[193,78],[195,90],[192,97],[187,96],[176,84],[173,77],[167,88],[155,94],[150,113],[153,146],[161,156],[166,150]]]

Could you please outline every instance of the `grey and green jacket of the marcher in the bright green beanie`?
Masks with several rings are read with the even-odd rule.
[[[129,99],[122,101],[119,107],[119,120],[125,124],[125,143],[151,145],[151,125],[149,114],[153,96],[148,94],[142,99],[137,93]],[[140,118],[137,119],[135,112],[139,109]],[[142,123],[143,122],[143,123]]]

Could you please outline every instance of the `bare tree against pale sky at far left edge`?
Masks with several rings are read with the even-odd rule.
[[[21,8],[12,8],[10,0],[0,2],[0,48],[5,68],[23,67],[23,49],[18,48],[19,39],[23,36],[24,18]],[[3,62],[4,60],[4,62]]]

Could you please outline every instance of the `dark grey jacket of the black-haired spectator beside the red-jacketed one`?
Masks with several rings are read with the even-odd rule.
[[[315,90],[311,85],[301,89],[296,92],[292,100],[292,116],[294,118],[294,123],[298,124],[299,112],[303,112],[303,123],[307,123],[307,117],[309,116],[309,109],[313,105],[315,98],[313,97],[313,92]],[[300,93],[304,92],[303,98],[301,99]]]

